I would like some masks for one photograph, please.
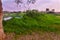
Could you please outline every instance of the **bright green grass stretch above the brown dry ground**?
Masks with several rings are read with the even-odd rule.
[[[15,18],[8,21],[3,21],[4,31],[13,32],[16,34],[29,34],[32,32],[47,31],[60,32],[60,18],[54,14],[41,14],[28,12],[21,14],[23,18]],[[56,26],[55,26],[56,25]]]

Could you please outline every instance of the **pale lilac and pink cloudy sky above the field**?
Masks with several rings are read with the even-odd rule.
[[[50,10],[55,9],[55,11],[60,12],[60,0],[36,0],[36,3],[34,5],[30,4],[30,6],[26,4],[26,0],[23,0],[23,2],[23,4],[19,4],[17,7],[14,0],[2,0],[3,11],[23,11],[30,7],[30,9],[39,11],[45,11],[46,8],[49,8]]]

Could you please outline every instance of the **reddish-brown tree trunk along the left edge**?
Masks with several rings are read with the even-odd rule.
[[[2,2],[0,0],[0,40],[3,40],[5,38],[5,34],[3,31],[3,25],[2,25],[2,20],[3,20],[3,12],[2,12]]]

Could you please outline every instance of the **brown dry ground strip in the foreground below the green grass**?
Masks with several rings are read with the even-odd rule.
[[[40,32],[27,35],[15,35],[14,33],[6,34],[5,40],[60,40],[60,34],[52,32]]]

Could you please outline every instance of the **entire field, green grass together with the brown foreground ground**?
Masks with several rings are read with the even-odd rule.
[[[6,13],[3,20],[6,40],[60,40],[60,15],[27,11]]]

